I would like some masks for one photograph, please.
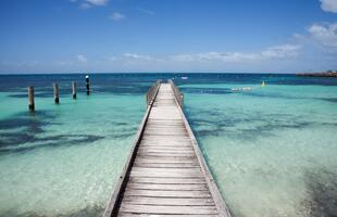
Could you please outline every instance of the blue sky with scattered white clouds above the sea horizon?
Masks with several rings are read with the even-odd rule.
[[[337,0],[0,0],[0,73],[337,69]]]

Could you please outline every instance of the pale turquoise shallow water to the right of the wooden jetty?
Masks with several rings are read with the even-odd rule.
[[[254,89],[185,98],[234,216],[336,216],[337,87],[249,87]]]

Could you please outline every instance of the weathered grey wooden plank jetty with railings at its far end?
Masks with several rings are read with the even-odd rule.
[[[172,80],[158,81],[104,217],[230,217]]]

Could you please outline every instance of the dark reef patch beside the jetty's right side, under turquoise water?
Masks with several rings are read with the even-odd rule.
[[[303,120],[299,116],[286,114],[250,114],[233,115],[230,112],[219,110],[189,110],[186,114],[198,137],[226,136],[241,139],[257,139],[259,137],[272,137],[284,129],[302,129],[305,127],[322,126],[322,123]],[[191,112],[192,111],[192,112]],[[205,118],[200,118],[205,117]],[[249,117],[249,118],[248,118]],[[257,123],[257,124],[254,124]],[[252,128],[238,128],[237,125],[250,125]],[[204,128],[204,126],[209,126]]]

